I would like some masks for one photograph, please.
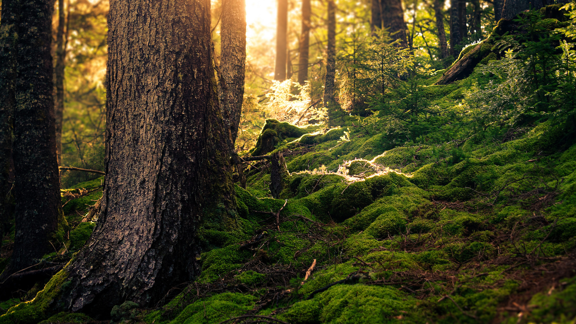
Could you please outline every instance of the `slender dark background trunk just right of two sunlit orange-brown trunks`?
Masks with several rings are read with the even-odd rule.
[[[336,5],[328,0],[328,46],[326,50],[326,77],[324,78],[324,107],[333,107],[334,78],[336,74]],[[329,112],[332,112],[329,110]]]

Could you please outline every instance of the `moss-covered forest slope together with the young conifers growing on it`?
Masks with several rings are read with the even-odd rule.
[[[203,221],[198,279],[112,322],[576,323],[569,18],[526,14],[528,32],[494,43],[500,59],[448,85],[407,77],[368,96],[366,117],[266,120],[250,155],[282,156],[279,180],[251,161],[236,224]],[[67,228],[43,262],[84,245],[101,184],[63,190]],[[104,323],[50,312],[65,271],[2,302],[0,323]]]

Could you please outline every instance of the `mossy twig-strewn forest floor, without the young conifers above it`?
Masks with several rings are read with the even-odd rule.
[[[431,86],[430,100],[461,100],[469,82]],[[247,189],[236,187],[236,227],[203,224],[201,276],[154,308],[115,307],[113,322],[576,322],[576,145],[558,127],[397,145],[370,122],[343,116],[339,127],[295,129],[267,120],[271,153],[285,159],[279,199],[270,163],[251,162]],[[81,220],[100,186],[63,193],[74,229],[46,258],[84,244],[94,225]],[[109,322],[48,315],[41,323]]]

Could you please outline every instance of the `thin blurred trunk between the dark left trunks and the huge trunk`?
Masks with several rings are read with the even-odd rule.
[[[64,114],[64,68],[66,58],[66,48],[64,48],[64,25],[66,24],[64,14],[64,0],[58,0],[58,31],[56,32],[56,68],[55,85],[56,101],[54,105],[54,115],[56,117],[56,154],[58,155],[58,165],[62,165],[62,120]]]

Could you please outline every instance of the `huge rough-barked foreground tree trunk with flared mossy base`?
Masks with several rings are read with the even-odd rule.
[[[66,270],[69,310],[150,306],[199,274],[202,221],[234,226],[211,48],[210,0],[110,2],[104,195]]]

